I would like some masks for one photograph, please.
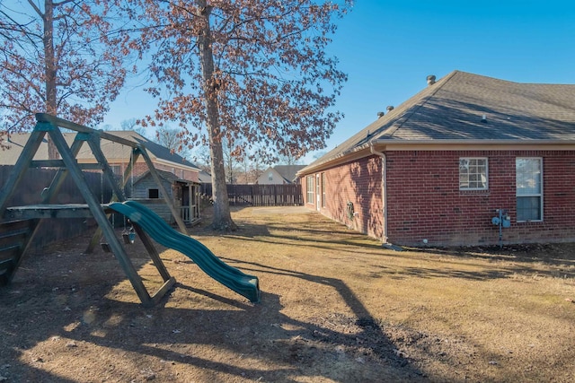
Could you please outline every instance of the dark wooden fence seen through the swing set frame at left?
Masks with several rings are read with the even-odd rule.
[[[13,171],[13,166],[0,166],[0,188],[6,183],[6,179]],[[24,174],[20,187],[13,193],[9,200],[10,205],[36,205],[42,200],[42,190],[49,187],[57,170],[52,169],[29,169]],[[102,182],[101,173],[84,172],[84,177],[93,194],[98,199],[110,200],[111,187],[108,182]],[[84,204],[84,198],[75,186],[72,178],[66,178],[64,185],[57,195],[56,204]],[[93,230],[92,219],[70,218],[66,220],[50,219],[49,224],[42,225],[34,242],[34,248],[40,249],[52,242],[62,239],[74,238],[86,230]]]

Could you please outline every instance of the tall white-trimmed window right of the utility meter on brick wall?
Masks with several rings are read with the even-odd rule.
[[[543,221],[543,159],[515,159],[517,221]]]

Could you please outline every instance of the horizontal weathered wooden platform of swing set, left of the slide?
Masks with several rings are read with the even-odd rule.
[[[109,204],[101,206],[104,213],[111,213]],[[93,217],[93,213],[87,204],[11,206],[4,213],[4,221],[89,217]]]

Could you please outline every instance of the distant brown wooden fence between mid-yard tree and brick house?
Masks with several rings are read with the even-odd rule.
[[[201,193],[212,195],[212,185],[204,184]],[[301,185],[227,185],[230,205],[294,206],[304,205]]]

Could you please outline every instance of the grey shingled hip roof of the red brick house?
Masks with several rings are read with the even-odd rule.
[[[454,71],[300,174],[371,145],[575,144],[575,85],[513,83]]]

